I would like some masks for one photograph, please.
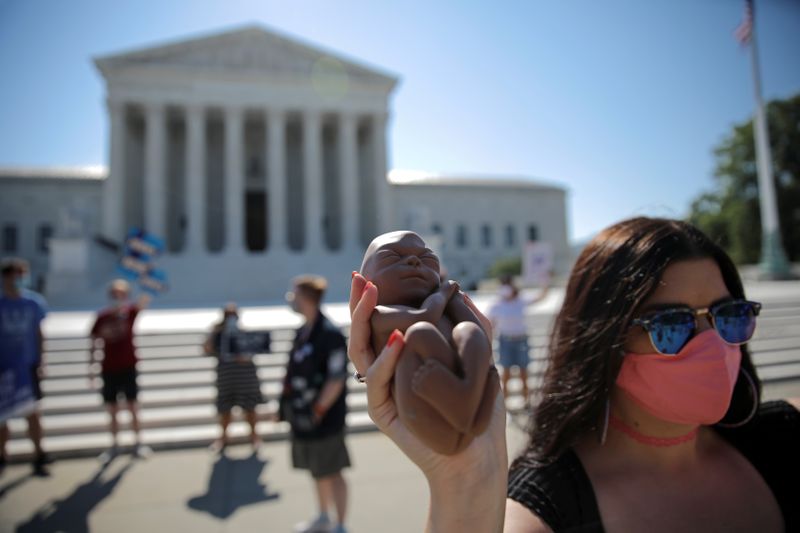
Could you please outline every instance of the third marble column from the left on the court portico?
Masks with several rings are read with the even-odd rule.
[[[186,202],[185,250],[206,252],[206,117],[198,105],[186,110]]]

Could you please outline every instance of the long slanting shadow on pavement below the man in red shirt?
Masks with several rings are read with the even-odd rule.
[[[41,531],[88,533],[89,513],[111,494],[133,463],[134,461],[130,460],[112,477],[101,479],[113,461],[104,464],[89,481],[78,486],[72,494],[43,505],[27,522],[17,526],[17,533]]]

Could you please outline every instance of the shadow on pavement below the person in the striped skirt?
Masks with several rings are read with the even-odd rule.
[[[206,512],[217,518],[228,518],[239,507],[270,500],[280,495],[270,493],[259,478],[267,465],[256,453],[243,459],[220,455],[211,470],[206,493],[195,496],[186,505],[195,511]]]

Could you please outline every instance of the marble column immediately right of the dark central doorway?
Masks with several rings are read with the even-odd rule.
[[[269,184],[268,250],[282,252],[286,248],[286,115],[283,111],[267,111],[267,176]]]

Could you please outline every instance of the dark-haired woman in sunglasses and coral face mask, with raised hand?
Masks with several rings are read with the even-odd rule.
[[[432,530],[800,528],[800,415],[785,402],[760,403],[745,344],[759,305],[696,228],[635,218],[583,250],[505,513],[502,420],[450,459],[399,425],[389,384],[402,343],[370,364],[363,341],[374,292],[354,280],[351,357],[366,372],[373,419],[428,478]]]

